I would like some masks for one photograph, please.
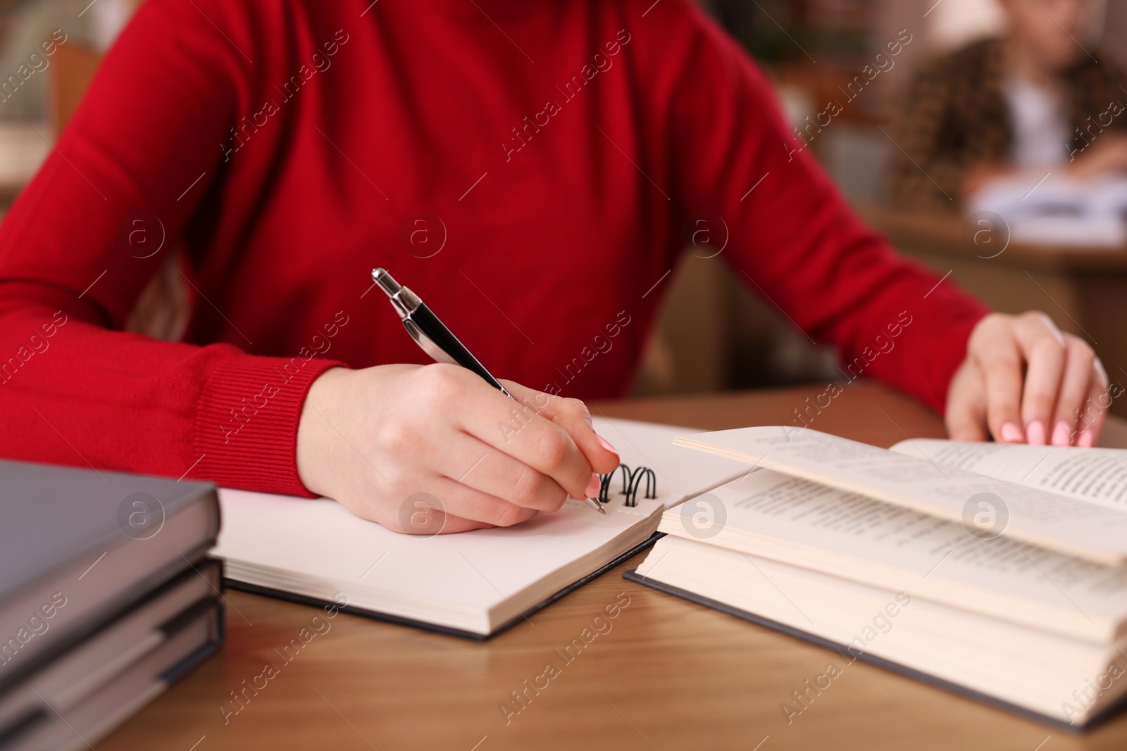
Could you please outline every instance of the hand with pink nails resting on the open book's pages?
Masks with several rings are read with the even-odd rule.
[[[992,313],[971,331],[951,378],[947,431],[955,440],[1094,446],[1111,400],[1085,341],[1045,313]]]

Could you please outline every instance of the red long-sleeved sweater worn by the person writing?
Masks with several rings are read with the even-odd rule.
[[[842,383],[941,409],[984,309],[793,150],[691,0],[149,0],[0,227],[0,455],[304,493],[312,379],[426,361],[374,266],[498,376],[621,396],[702,215]],[[185,341],[122,332],[174,247]]]

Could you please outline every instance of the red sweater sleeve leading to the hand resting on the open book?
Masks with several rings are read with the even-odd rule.
[[[835,346],[838,383],[876,377],[942,412],[987,309],[864,226],[787,126],[761,71],[691,5],[663,3],[646,19],[676,27],[662,53],[671,61],[674,199],[684,216],[722,218],[725,257],[737,275],[814,339]],[[692,21],[673,24],[678,12]],[[694,30],[685,34],[686,26]],[[867,95],[875,92],[857,96]],[[811,138],[827,137],[841,127],[835,116],[861,106],[844,95],[837,104],[810,128]]]

